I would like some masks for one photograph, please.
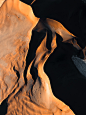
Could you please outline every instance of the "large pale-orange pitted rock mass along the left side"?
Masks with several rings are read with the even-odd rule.
[[[16,87],[24,85],[23,72],[31,30],[38,21],[33,14],[27,16],[28,20],[19,5],[18,1],[8,0],[0,8],[0,103]],[[28,9],[32,13],[31,7]]]

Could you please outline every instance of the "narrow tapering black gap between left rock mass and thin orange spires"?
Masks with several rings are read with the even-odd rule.
[[[27,84],[26,74],[27,74],[28,66],[30,65],[31,61],[35,58],[36,50],[40,45],[40,43],[42,42],[42,40],[44,39],[45,35],[46,35],[45,30],[43,30],[42,32],[32,31],[32,37],[29,44],[28,54],[26,57],[26,67],[24,70],[25,84]]]

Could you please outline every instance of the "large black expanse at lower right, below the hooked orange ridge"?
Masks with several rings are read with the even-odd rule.
[[[63,43],[58,34],[56,41],[58,47],[46,61],[44,71],[50,79],[54,96],[69,105],[76,115],[84,115],[86,78],[71,59],[73,55],[83,59],[83,53],[79,53],[72,44]]]

